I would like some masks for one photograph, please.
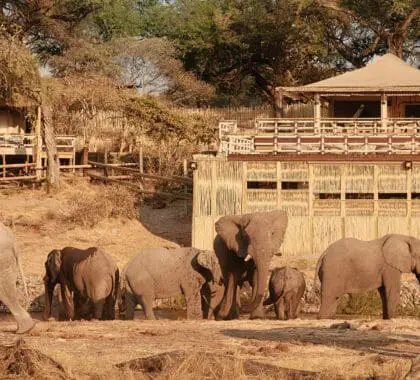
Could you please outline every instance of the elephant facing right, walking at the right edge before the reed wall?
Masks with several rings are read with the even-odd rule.
[[[401,273],[413,272],[420,282],[420,240],[389,234],[362,241],[345,238],[331,244],[318,259],[315,280],[321,281],[319,319],[332,317],[340,296],[378,289],[383,319],[395,317]]]

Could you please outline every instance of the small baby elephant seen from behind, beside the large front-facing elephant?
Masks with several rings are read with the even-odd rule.
[[[264,305],[274,303],[278,319],[295,319],[300,312],[300,300],[305,293],[305,278],[296,268],[276,268],[268,285],[270,296]]]

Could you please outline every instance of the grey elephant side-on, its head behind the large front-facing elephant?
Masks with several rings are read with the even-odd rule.
[[[133,257],[123,270],[120,312],[134,318],[137,304],[147,319],[155,319],[155,298],[184,294],[187,318],[203,318],[202,288],[206,283],[222,283],[222,273],[214,252],[191,247],[148,248]],[[207,301],[208,302],[208,301]]]

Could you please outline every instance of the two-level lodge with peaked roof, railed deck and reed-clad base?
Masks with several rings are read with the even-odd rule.
[[[313,116],[223,121],[218,155],[195,156],[193,246],[212,248],[222,215],[279,208],[288,256],[318,257],[341,237],[420,236],[420,70],[387,54],[277,95]]]

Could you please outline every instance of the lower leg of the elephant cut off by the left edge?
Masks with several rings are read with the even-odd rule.
[[[26,333],[35,326],[35,322],[29,313],[19,304],[19,295],[14,276],[8,275],[0,279],[0,300],[15,318],[18,325],[17,334]]]

